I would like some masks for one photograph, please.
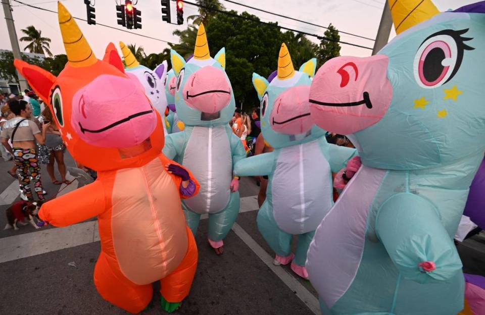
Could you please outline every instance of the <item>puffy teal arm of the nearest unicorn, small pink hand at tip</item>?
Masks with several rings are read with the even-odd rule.
[[[439,212],[423,197],[393,195],[381,205],[375,221],[377,237],[405,279],[446,281],[462,268]]]

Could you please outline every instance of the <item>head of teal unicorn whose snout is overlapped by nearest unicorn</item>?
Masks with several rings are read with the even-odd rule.
[[[288,48],[283,43],[279,50],[277,76],[268,82],[253,73],[253,85],[261,100],[261,131],[264,139],[280,148],[319,138],[325,131],[315,126],[310,118],[308,95],[315,74],[315,58],[295,71]]]

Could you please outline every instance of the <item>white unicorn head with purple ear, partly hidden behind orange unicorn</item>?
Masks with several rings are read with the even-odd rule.
[[[126,74],[128,76],[133,75],[140,81],[141,85],[145,88],[145,93],[150,97],[153,107],[155,107],[162,117],[165,117],[167,97],[162,80],[167,74],[167,62],[164,61],[152,71],[140,65],[136,57],[131,53],[131,50],[122,41],[120,41],[120,48],[126,65]]]

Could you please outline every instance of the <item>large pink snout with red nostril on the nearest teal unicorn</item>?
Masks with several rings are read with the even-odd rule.
[[[393,97],[389,58],[338,57],[317,72],[310,89],[310,113],[317,126],[351,134],[377,123]]]

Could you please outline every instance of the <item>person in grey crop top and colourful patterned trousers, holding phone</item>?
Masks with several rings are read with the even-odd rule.
[[[30,120],[32,110],[24,100],[11,99],[8,103],[10,110],[15,117],[4,124],[2,134],[2,144],[14,156],[17,165],[17,175],[20,184],[20,197],[23,200],[33,201],[30,182],[34,185],[37,198],[44,201],[40,167],[35,153],[35,141],[39,144],[45,143],[45,135],[51,123],[42,124],[42,131]],[[12,140],[12,146],[9,144]]]

